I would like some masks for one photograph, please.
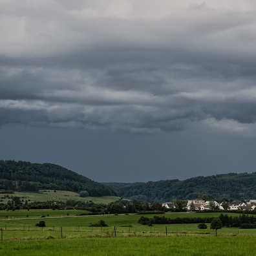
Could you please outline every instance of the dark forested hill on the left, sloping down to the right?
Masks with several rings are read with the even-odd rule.
[[[0,189],[87,191],[91,197],[116,195],[111,188],[59,165],[32,164],[13,160],[0,160]]]

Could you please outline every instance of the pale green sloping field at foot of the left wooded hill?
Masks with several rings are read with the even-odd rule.
[[[78,193],[72,191],[63,190],[39,190],[38,192],[19,192],[14,191],[12,194],[0,194],[1,202],[6,204],[10,198],[6,197],[20,197],[25,202],[46,202],[46,201],[67,201],[67,200],[80,200],[80,201],[92,201],[94,204],[109,204],[114,202],[120,197],[80,197]]]

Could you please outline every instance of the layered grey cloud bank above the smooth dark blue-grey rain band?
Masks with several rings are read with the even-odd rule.
[[[0,125],[255,132],[252,1],[0,5]]]

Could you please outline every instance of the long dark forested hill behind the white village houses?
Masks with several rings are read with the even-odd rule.
[[[210,198],[256,199],[256,173],[197,176],[187,180],[157,182],[103,183],[112,187],[118,197],[169,202],[172,199],[195,199],[206,193]]]

